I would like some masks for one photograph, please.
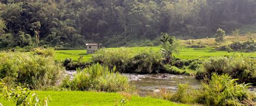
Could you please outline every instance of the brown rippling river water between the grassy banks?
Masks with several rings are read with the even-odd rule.
[[[140,96],[152,93],[153,90],[159,88],[167,88],[176,91],[179,84],[188,84],[192,88],[199,88],[200,81],[189,75],[174,74],[123,74],[129,78],[129,83],[138,88]]]

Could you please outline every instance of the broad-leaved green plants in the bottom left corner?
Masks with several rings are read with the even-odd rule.
[[[8,87],[5,86],[2,97],[8,101],[14,102],[16,105],[23,106],[48,106],[48,102],[51,100],[50,96],[44,97],[43,100],[40,100],[34,91],[31,91],[29,88],[21,88],[19,86],[14,89],[8,89]]]

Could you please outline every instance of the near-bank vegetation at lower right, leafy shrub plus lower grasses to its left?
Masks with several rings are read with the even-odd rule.
[[[179,84],[177,92],[160,89],[153,97],[179,103],[204,105],[255,105],[255,95],[247,84],[238,84],[238,79],[232,79],[228,74],[212,73],[211,78],[201,81],[199,89],[193,89],[188,84]]]

